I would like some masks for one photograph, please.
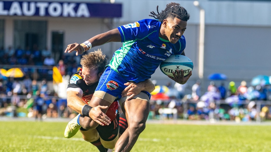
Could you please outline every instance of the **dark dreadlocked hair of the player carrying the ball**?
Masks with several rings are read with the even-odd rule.
[[[162,10],[161,13],[158,12],[158,6],[156,7],[157,13],[151,12],[151,17],[158,19],[160,22],[163,22],[166,18],[179,18],[182,21],[187,21],[190,15],[187,13],[186,9],[181,7],[179,3],[169,3],[165,10]]]

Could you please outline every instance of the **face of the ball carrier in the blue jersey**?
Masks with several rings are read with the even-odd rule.
[[[175,44],[184,34],[187,22],[179,18],[167,18],[163,21],[164,39],[168,39],[170,43]]]

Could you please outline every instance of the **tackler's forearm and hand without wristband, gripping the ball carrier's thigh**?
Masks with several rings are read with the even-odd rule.
[[[138,95],[141,91],[152,92],[155,89],[154,84],[151,79],[147,79],[145,81],[135,83],[134,81],[130,81],[124,84],[127,86],[122,92],[122,97],[127,97],[127,100],[130,100],[135,95]]]

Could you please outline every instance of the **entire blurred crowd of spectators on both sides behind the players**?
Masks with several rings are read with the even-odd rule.
[[[57,66],[61,75],[72,75],[80,67],[80,56],[61,55],[53,57],[51,50],[20,47],[0,48],[0,65]],[[2,67],[3,68],[3,67]],[[33,117],[42,120],[47,117],[71,117],[76,114],[67,107],[66,99],[58,97],[52,87],[52,69],[38,69],[38,79],[33,78],[33,69],[23,68],[23,78],[0,75],[0,115],[11,117]],[[48,83],[50,82],[50,83]],[[218,84],[219,82],[219,84]],[[201,81],[189,86],[168,82],[156,85],[151,92],[150,119],[171,119],[174,109],[177,118],[189,120],[235,120],[251,121],[257,117],[271,119],[271,85],[248,86],[246,81],[211,81],[207,92],[202,93]],[[217,84],[216,84],[217,83]],[[187,93],[189,92],[189,93]],[[258,104],[258,102],[261,102]],[[260,106],[260,107],[257,107]],[[161,109],[169,109],[162,113]],[[160,109],[160,111],[159,111]],[[119,109],[121,111],[121,109]]]

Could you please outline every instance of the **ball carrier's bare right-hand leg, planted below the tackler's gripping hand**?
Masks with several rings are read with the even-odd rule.
[[[115,152],[132,149],[139,134],[145,129],[150,111],[150,103],[140,99],[125,101],[122,106],[124,106],[122,109],[126,115],[128,128],[119,137],[115,145]]]

